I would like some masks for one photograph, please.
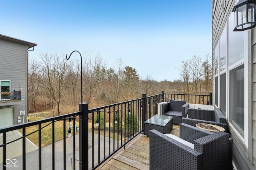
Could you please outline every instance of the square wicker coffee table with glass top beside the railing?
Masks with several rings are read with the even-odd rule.
[[[144,135],[149,136],[149,130],[155,129],[161,133],[170,133],[172,130],[172,116],[154,115],[144,121]]]

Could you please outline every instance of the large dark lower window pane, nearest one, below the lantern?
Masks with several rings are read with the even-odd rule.
[[[229,120],[244,137],[244,64],[230,70]]]

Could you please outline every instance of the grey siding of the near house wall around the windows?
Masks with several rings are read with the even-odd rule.
[[[220,35],[227,23],[228,17],[232,12],[236,0],[212,0],[212,65],[214,68],[214,51],[216,44],[220,38]],[[225,8],[223,8],[225,5]],[[244,69],[248,69],[248,94],[244,97],[248,98],[248,147],[241,141],[238,137],[237,132],[235,132],[229,125],[230,136],[234,139],[233,143],[233,161],[237,169],[241,170],[255,170],[256,169],[256,28],[250,29],[248,32],[248,67],[245,66]],[[214,75],[214,70],[213,70]],[[228,70],[227,70],[228,75]],[[214,90],[214,76],[213,76],[213,101],[215,96]],[[229,96],[229,94],[228,94]],[[214,101],[215,102],[215,101]],[[227,107],[227,106],[226,106]],[[227,115],[227,114],[226,114]]]

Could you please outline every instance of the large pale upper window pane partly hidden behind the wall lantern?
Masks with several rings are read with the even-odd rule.
[[[233,31],[235,28],[235,13],[228,18],[228,65],[244,58],[244,32]]]

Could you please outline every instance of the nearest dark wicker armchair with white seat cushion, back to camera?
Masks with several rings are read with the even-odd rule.
[[[233,140],[228,133],[181,123],[180,138],[167,135],[150,130],[150,170],[232,169]]]

